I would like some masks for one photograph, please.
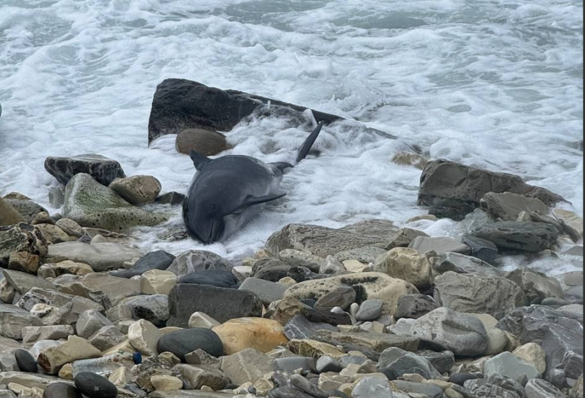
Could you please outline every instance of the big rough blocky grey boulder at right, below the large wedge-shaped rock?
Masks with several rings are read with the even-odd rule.
[[[520,286],[505,277],[448,271],[434,282],[436,302],[462,313],[488,313],[500,319],[527,303]]]

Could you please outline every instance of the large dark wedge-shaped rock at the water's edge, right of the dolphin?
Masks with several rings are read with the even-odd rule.
[[[526,184],[522,178],[513,174],[476,169],[439,159],[425,165],[418,187],[417,203],[437,208],[445,215],[449,214],[447,209],[452,209],[454,219],[462,220],[466,213],[479,206],[486,193],[506,191],[538,198],[546,205],[564,200],[548,189]]]

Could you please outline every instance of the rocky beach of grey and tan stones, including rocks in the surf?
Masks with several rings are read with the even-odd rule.
[[[251,115],[366,128],[169,79],[149,143],[221,155]],[[582,218],[520,176],[427,156],[406,143],[392,159],[420,171],[423,214],[286,224],[236,259],[140,240],[180,213],[164,181],[47,157],[60,212],[0,198],[0,397],[582,398],[583,273],[535,266],[582,268]],[[423,231],[444,220],[449,236]]]

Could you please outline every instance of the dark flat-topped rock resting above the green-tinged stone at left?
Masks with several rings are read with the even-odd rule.
[[[116,160],[96,154],[65,158],[49,156],[45,159],[45,170],[64,185],[79,173],[89,174],[97,182],[106,186],[114,179],[126,176],[122,166]]]

